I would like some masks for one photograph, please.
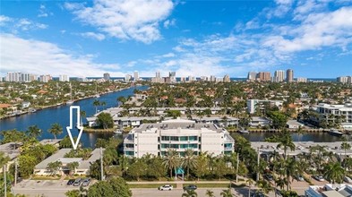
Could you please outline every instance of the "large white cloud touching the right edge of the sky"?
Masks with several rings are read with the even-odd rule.
[[[352,7],[342,7],[331,13],[310,13],[289,35],[270,36],[264,45],[279,52],[296,52],[322,47],[347,47],[352,43]]]

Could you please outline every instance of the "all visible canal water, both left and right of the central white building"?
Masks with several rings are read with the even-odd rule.
[[[133,87],[126,90],[116,91],[101,95],[99,98],[83,99],[73,103],[73,106],[80,106],[81,110],[85,111],[87,116],[92,116],[95,114],[95,107],[93,106],[93,101],[98,99],[100,102],[105,101],[105,107],[99,107],[99,110],[103,110],[108,107],[116,107],[118,97],[128,97],[133,95],[133,90],[146,90],[148,86]],[[18,131],[26,131],[30,125],[38,125],[43,131],[42,135],[39,137],[41,139],[53,139],[54,136],[47,132],[51,124],[58,123],[63,126],[63,133],[57,136],[58,138],[63,138],[67,135],[65,127],[69,125],[70,119],[70,106],[60,106],[46,108],[37,111],[33,114],[26,114],[22,116],[16,116],[0,120],[0,131],[17,129]],[[244,134],[245,138],[249,141],[263,141],[266,137],[270,137],[277,133],[250,133]],[[110,138],[115,136],[114,133],[82,133],[82,145],[83,147],[94,147],[95,141],[98,138]],[[298,136],[296,133],[292,133],[292,138],[294,141],[316,141],[316,142],[328,142],[328,141],[341,141],[341,138],[331,136],[328,133],[305,133]],[[351,140],[350,136],[347,136],[348,140]]]

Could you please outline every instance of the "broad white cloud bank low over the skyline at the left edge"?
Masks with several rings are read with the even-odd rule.
[[[0,34],[1,72],[21,71],[54,76],[123,76],[118,64],[95,64],[92,56],[77,56],[55,44]]]

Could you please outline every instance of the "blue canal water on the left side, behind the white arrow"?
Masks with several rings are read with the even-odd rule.
[[[106,109],[108,107],[116,107],[116,99],[123,96],[133,96],[133,90],[146,90],[148,86],[133,87],[127,90],[116,91],[101,95],[99,98],[83,99],[74,102],[72,106],[80,106],[80,109],[85,111],[87,116],[95,114],[95,107],[93,101],[98,99],[100,102],[105,101],[107,105],[105,107],[99,107],[99,110]],[[75,112],[74,112],[75,113]],[[75,115],[74,115],[75,116]],[[39,140],[42,139],[54,139],[54,136],[47,132],[51,127],[51,124],[58,123],[63,127],[63,133],[58,135],[57,138],[63,138],[67,135],[66,126],[70,124],[70,106],[50,107],[36,113],[26,114],[22,116],[16,116],[0,120],[0,131],[16,129],[18,131],[26,131],[30,125],[38,125],[43,131]],[[73,121],[74,124],[74,121]],[[97,138],[109,138],[113,136],[113,133],[82,133],[82,145],[83,147],[93,147]]]

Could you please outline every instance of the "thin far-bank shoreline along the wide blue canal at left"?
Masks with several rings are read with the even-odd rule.
[[[101,95],[106,95],[106,94],[114,93],[114,92],[117,92],[117,91],[127,90],[127,89],[130,89],[130,88],[133,88],[133,87],[134,87],[134,86],[130,86],[130,87],[121,88],[121,89],[118,89],[118,90],[109,90],[109,91],[107,91],[107,92],[99,92],[98,95],[99,95],[99,96],[101,96]],[[84,100],[84,99],[91,99],[91,98],[94,98],[95,96],[97,96],[97,94],[96,94],[96,95],[87,96],[87,97],[84,97],[84,98],[81,98],[81,99],[75,99],[75,100],[73,100],[73,104],[74,104],[74,102],[77,102],[77,101],[80,101],[80,100]],[[0,117],[0,120],[4,120],[4,119],[7,119],[7,118],[16,117],[16,116],[22,116],[22,115],[25,115],[25,114],[34,114],[34,113],[36,113],[37,111],[40,111],[40,110],[43,110],[43,109],[47,109],[47,108],[62,107],[62,106],[73,105],[73,104],[56,103],[55,105],[36,108],[36,111],[35,111],[35,112],[23,111],[23,112],[16,113],[16,114],[14,114],[14,115],[2,116],[2,117]]]

